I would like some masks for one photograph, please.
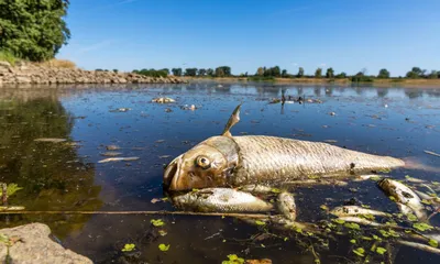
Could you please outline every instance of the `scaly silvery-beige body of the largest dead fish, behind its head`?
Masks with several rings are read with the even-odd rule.
[[[240,147],[239,166],[233,177],[235,185],[405,165],[398,158],[350,151],[321,142],[266,135],[233,136],[233,140]],[[354,164],[353,169],[351,164]]]

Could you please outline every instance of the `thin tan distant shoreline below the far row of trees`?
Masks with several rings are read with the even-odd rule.
[[[276,85],[283,84],[307,84],[307,85],[372,85],[372,86],[414,86],[414,87],[430,87],[440,88],[440,79],[374,79],[374,81],[355,82],[349,78],[328,79],[328,78],[274,78],[254,80],[249,77],[180,77],[187,81],[218,81],[218,82],[273,82]]]

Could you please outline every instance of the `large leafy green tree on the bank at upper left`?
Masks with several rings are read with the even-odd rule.
[[[33,62],[53,58],[70,38],[68,6],[68,0],[0,1],[0,50]]]

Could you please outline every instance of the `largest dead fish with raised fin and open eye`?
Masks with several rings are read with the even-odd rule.
[[[209,138],[173,160],[164,173],[168,190],[294,180],[308,175],[341,176],[405,166],[398,158],[327,143],[265,135],[232,136],[229,131],[239,121],[240,106],[222,135]]]

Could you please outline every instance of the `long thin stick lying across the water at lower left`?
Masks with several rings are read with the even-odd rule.
[[[235,212],[190,212],[190,211],[0,211],[0,215],[169,215],[169,216],[201,216],[201,217],[240,217],[267,218],[262,213]]]

